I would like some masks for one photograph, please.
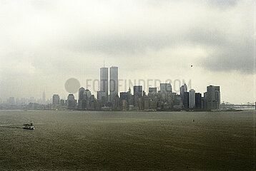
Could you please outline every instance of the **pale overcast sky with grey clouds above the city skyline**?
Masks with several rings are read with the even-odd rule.
[[[86,87],[105,60],[120,79],[179,79],[201,93],[220,86],[222,101],[256,100],[255,1],[0,0],[0,21],[2,99],[67,98],[67,79]]]

